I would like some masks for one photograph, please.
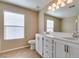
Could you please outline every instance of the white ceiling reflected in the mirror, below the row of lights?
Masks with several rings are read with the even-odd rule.
[[[69,6],[72,6],[72,5],[75,5],[75,7],[69,8]],[[66,5],[65,7],[55,10],[54,12],[47,11],[46,13],[59,18],[79,15],[79,0],[74,0],[72,4]]]

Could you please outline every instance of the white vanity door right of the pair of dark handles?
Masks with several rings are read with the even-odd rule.
[[[79,47],[69,46],[70,48],[70,57],[79,58]]]

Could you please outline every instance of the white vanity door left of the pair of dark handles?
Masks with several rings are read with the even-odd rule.
[[[56,58],[65,58],[66,53],[65,53],[65,45],[61,42],[56,41],[55,43],[55,57]]]

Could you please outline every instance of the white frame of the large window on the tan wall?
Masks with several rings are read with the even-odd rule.
[[[5,12],[10,12],[10,13],[15,13],[15,14],[22,14],[23,16],[24,16],[24,21],[25,21],[25,14],[23,14],[23,13],[17,13],[17,12],[13,12],[13,11],[3,11],[3,15],[4,15],[4,17],[5,17]],[[3,18],[4,18],[3,17]],[[5,18],[4,18],[4,21],[5,21]],[[5,25],[4,24],[4,21],[3,21],[3,29],[5,28],[5,27],[23,27],[23,29],[24,29],[24,34],[23,34],[23,38],[13,38],[13,39],[5,39],[5,29],[3,30],[3,33],[4,33],[4,35],[3,35],[3,38],[4,38],[4,40],[18,40],[18,39],[24,39],[25,38],[25,23],[24,23],[24,25],[23,26],[19,26],[19,25]]]

